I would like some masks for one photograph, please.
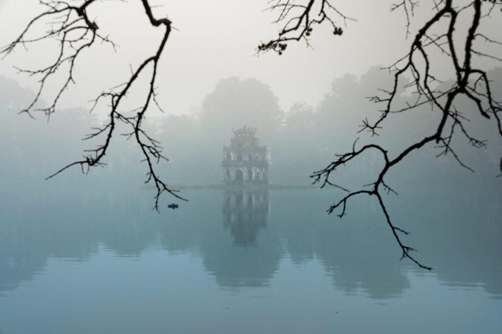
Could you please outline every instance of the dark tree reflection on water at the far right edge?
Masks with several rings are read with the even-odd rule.
[[[466,192],[439,190],[437,196],[445,200],[432,201],[430,210],[420,212],[410,221],[410,224],[429,222],[417,230],[417,237],[427,240],[421,253],[437,267],[434,272],[446,286],[459,289],[482,286],[495,297],[502,296],[500,195],[496,188]],[[422,193],[413,194],[410,200],[421,196]],[[434,224],[434,216],[439,212],[443,212],[443,219]]]

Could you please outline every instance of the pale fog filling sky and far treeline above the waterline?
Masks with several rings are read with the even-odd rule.
[[[365,11],[358,10],[363,3]],[[349,150],[359,137],[359,145],[370,141],[383,143],[392,155],[430,135],[439,114],[428,111],[427,107],[392,115],[378,138],[357,133],[362,120],[375,120],[382,107],[368,102],[367,97],[392,85],[388,71],[380,68],[392,64],[407,49],[408,40],[402,29],[406,24],[404,12],[390,12],[391,3],[339,4],[345,15],[357,20],[347,22],[342,36],[322,31],[321,26],[310,41],[315,50],[302,43],[291,43],[282,56],[256,55],[258,42],[271,38],[278,29],[277,25],[269,24],[275,14],[264,11],[266,2],[154,4],[162,5],[155,8],[157,15],[169,13],[177,29],[168,40],[157,81],[158,100],[165,113],[152,106],[146,114],[148,131],[153,131],[170,159],[158,166],[163,178],[176,184],[218,184],[222,146],[229,144],[231,128],[243,125],[258,128],[260,144],[270,150],[270,180],[279,184],[308,184],[311,172],[323,168],[335,153]],[[430,13],[429,5],[422,4],[416,9],[412,30]],[[5,0],[0,6],[0,20],[4,27],[9,27],[4,29],[1,45],[13,40],[42,8],[31,0]],[[47,64],[55,55],[55,45],[42,43],[18,48],[0,62],[1,117],[4,124],[10,124],[9,131],[2,133],[2,150],[4,157],[12,161],[2,165],[9,172],[3,175],[43,178],[78,159],[82,149],[97,144],[80,141],[106,115],[106,106],[87,114],[92,105],[89,101],[123,82],[130,65],[136,66],[155,50],[160,38],[159,31],[138,18],[141,10],[135,2],[103,2],[90,9],[90,16],[118,45],[117,50],[102,45],[82,56],[76,65],[76,83],[64,91],[58,103],[60,110],[48,123],[43,115],[35,115],[36,121],[17,115],[31,102],[38,87],[36,77],[17,74],[13,66],[35,69]],[[378,25],[371,19],[373,16],[382,18]],[[460,18],[466,23],[468,19],[468,16]],[[480,29],[492,32],[498,29],[497,25],[500,24],[496,20],[485,20]],[[37,29],[44,28],[37,26],[34,32]],[[486,52],[493,50],[491,45],[483,48]],[[473,61],[491,70],[494,94],[500,94],[501,75],[496,61],[481,58]],[[453,72],[447,69],[441,66],[435,69],[445,81],[453,78]],[[56,74],[47,83],[41,96],[45,101],[42,105],[52,101],[61,85],[61,75]],[[142,85],[145,86],[147,78],[143,79],[128,97],[127,106],[131,109],[143,101]],[[410,92],[401,93],[399,103],[412,101]],[[481,175],[494,175],[500,145],[495,140],[495,129],[479,120],[473,107],[465,102],[461,109],[473,116],[470,126],[480,133],[480,139],[492,140],[488,141],[487,150],[472,150],[458,138],[458,150],[467,159],[466,164],[470,162]],[[90,178],[106,175],[108,179],[123,176],[124,180],[137,180],[145,174],[146,166],[139,163],[141,158],[134,143],[123,139],[114,138],[114,146],[106,157],[108,165],[92,170]],[[432,147],[425,148],[410,156],[393,174],[404,178],[427,178],[441,173],[466,175],[455,166],[451,156],[433,159],[436,154]],[[368,170],[377,171],[381,157],[367,158],[372,160],[370,164],[356,163],[349,170],[361,175]],[[436,172],[432,173],[433,170]],[[348,177],[344,171],[340,172]],[[73,170],[61,177],[77,173],[80,171]]]

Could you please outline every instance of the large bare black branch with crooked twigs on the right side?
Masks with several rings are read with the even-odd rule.
[[[482,8],[483,2],[490,3],[488,5],[488,9],[485,12],[483,12]],[[391,9],[392,11],[398,8],[404,9],[407,18],[407,36],[410,29],[410,16],[413,16],[413,10],[416,5],[417,2],[404,0],[398,4],[393,5]],[[328,178],[337,167],[344,165],[349,160],[360,156],[366,150],[376,149],[380,151],[383,154],[385,164],[376,181],[369,185],[373,187],[372,190],[358,190],[350,192],[338,203],[332,205],[328,209],[328,212],[331,213],[336,208],[342,206],[342,211],[338,215],[339,217],[342,217],[345,214],[346,202],[352,196],[358,194],[376,196],[379,200],[380,207],[384,212],[387,223],[391,227],[396,241],[402,249],[403,253],[401,258],[409,258],[418,266],[427,270],[431,270],[432,268],[425,266],[417,261],[410,254],[410,251],[414,249],[402,243],[397,232],[402,232],[404,234],[409,234],[409,232],[394,226],[388,213],[387,207],[385,206],[382,199],[380,189],[384,189],[387,194],[391,192],[397,194],[392,188],[385,184],[385,175],[392,166],[398,164],[400,161],[406,158],[409,153],[422,148],[424,145],[430,142],[435,142],[437,144],[437,147],[442,149],[439,155],[451,154],[462,167],[473,172],[470,167],[465,165],[460,160],[460,157],[455,153],[455,151],[453,151],[451,147],[452,138],[456,133],[455,130],[459,129],[460,131],[458,133],[461,133],[464,137],[466,137],[469,140],[469,144],[476,148],[485,148],[486,140],[476,139],[468,133],[467,128],[464,126],[464,122],[469,120],[455,108],[455,100],[459,96],[466,97],[470,101],[472,101],[476,106],[478,115],[480,115],[482,118],[490,120],[494,119],[494,122],[497,126],[497,131],[502,138],[502,127],[500,122],[502,114],[501,105],[499,102],[495,101],[491,95],[490,81],[487,78],[486,72],[481,69],[474,68],[472,65],[472,56],[475,55],[487,57],[494,60],[500,60],[499,57],[474,50],[474,40],[476,37],[482,39],[483,42],[500,45],[499,42],[490,39],[480,33],[477,33],[480,20],[483,17],[487,17],[496,6],[502,7],[502,2],[499,0],[474,0],[470,2],[469,5],[462,8],[453,7],[452,0],[443,0],[437,3],[437,12],[434,13],[433,16],[422,26],[422,28],[418,30],[413,39],[413,42],[411,43],[410,51],[408,52],[408,54],[400,58],[397,62],[387,68],[389,71],[394,72],[394,84],[392,90],[380,90],[380,92],[385,94],[384,96],[377,95],[370,98],[370,101],[385,104],[385,109],[381,110],[381,115],[375,122],[370,122],[365,119],[361,126],[362,129],[359,131],[361,132],[366,130],[371,134],[371,136],[378,135],[378,131],[382,129],[383,122],[390,114],[413,110],[419,106],[428,104],[431,105],[432,108],[438,109],[442,115],[439,123],[437,124],[436,130],[432,134],[425,136],[421,141],[410,145],[400,154],[398,154],[398,156],[394,159],[389,159],[387,151],[380,145],[368,144],[364,145],[359,150],[355,150],[354,143],[351,152],[337,155],[336,161],[329,164],[326,168],[314,172],[311,175],[311,178],[313,178],[314,180],[313,183],[317,183],[323,180],[321,187],[324,187],[325,184],[331,184],[331,182],[328,181]],[[472,12],[472,22],[465,36],[464,48],[463,50],[461,50],[463,52],[463,55],[459,57],[459,49],[454,47],[453,32],[457,30],[456,28],[458,25],[458,14],[467,10],[470,10]],[[448,25],[446,26],[444,33],[440,35],[432,34],[433,27],[438,26],[438,23],[441,20],[448,21]],[[445,55],[449,58],[456,78],[451,87],[445,87],[443,81],[438,80],[435,75],[431,73],[432,60],[429,57],[430,48],[436,48],[436,50],[440,51],[441,55]],[[460,61],[460,59],[463,59],[463,63]],[[407,77],[405,77],[406,75],[408,75],[408,77],[411,77],[411,82],[403,86],[407,89],[413,88],[414,93],[417,95],[417,99],[414,101],[414,103],[408,104],[405,108],[395,109],[394,105],[396,104],[395,100],[398,94],[398,89],[400,88],[400,82],[406,82],[407,80],[409,80]],[[502,158],[500,160],[500,171],[502,173]]]

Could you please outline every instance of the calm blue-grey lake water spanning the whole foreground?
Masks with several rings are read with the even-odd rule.
[[[490,190],[491,189],[491,190]],[[0,190],[0,332],[502,333],[496,187],[401,189],[390,213],[434,267],[399,261],[376,203],[337,191]]]

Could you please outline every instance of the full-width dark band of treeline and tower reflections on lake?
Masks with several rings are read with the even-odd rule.
[[[87,261],[101,246],[139,259],[159,249],[190,253],[225,288],[267,286],[282,261],[318,261],[335,289],[376,299],[400,296],[413,288],[411,275],[424,275],[398,260],[395,240],[367,198],[351,202],[340,220],[324,211],[336,193],[318,190],[191,191],[189,203],[162,214],[150,211],[151,193],[136,188],[25,190],[0,190],[0,293],[43,274],[48,258]],[[410,214],[431,196],[442,200]],[[481,286],[500,298],[499,198],[498,190],[416,192],[388,201],[393,217],[413,232],[407,243],[420,245],[421,260],[435,268],[431,277],[446,288]]]

